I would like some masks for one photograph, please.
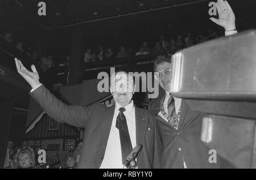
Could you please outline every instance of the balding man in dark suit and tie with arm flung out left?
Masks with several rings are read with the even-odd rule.
[[[158,168],[154,152],[155,125],[150,111],[136,107],[131,98],[135,86],[125,72],[111,77],[110,91],[115,106],[101,103],[68,106],[51,94],[39,82],[34,65],[28,71],[15,58],[18,73],[31,85],[30,95],[57,122],[85,128],[81,157],[77,168],[123,168],[123,162],[136,144],[142,144],[138,168]],[[154,160],[155,157],[155,160]],[[155,163],[155,165],[154,165]]]

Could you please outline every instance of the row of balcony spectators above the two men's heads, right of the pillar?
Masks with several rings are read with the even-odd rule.
[[[84,62],[94,62],[101,60],[108,60],[113,58],[123,58],[130,56],[139,56],[139,55],[164,55],[164,54],[174,54],[180,49],[191,47],[192,45],[203,43],[204,41],[214,39],[218,37],[217,32],[208,30],[206,35],[199,34],[192,36],[191,32],[188,32],[185,37],[178,35],[176,38],[172,38],[169,41],[165,38],[164,35],[160,35],[159,40],[155,42],[154,47],[149,47],[148,41],[143,41],[139,46],[138,51],[134,49],[126,48],[121,46],[119,51],[114,53],[111,47],[104,48],[102,45],[98,47],[98,51],[92,52],[92,49],[86,49],[84,53]]]

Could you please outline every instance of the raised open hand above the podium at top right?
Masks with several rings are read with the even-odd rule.
[[[236,30],[236,17],[233,10],[229,6],[228,1],[218,0],[216,3],[218,11],[218,19],[210,18],[212,22],[225,28],[225,31]]]

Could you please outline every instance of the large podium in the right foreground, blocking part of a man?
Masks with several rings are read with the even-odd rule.
[[[234,168],[256,168],[256,31],[183,49],[173,56],[174,97],[207,113],[201,140]]]

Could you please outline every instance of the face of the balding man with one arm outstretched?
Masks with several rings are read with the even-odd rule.
[[[110,91],[112,92],[115,102],[125,107],[130,103],[134,94],[133,78],[124,72],[118,72],[112,76],[110,82]]]

